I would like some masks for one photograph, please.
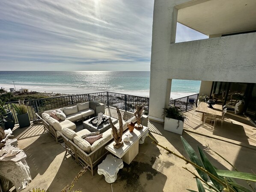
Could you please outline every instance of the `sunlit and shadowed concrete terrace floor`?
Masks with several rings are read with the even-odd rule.
[[[106,114],[110,113],[115,113],[115,110],[106,108]],[[239,171],[256,173],[256,139],[253,136],[256,129],[252,124],[249,125],[250,121],[229,113],[226,116],[232,122],[223,122],[221,128],[219,121],[212,130],[209,125],[202,126],[200,113],[196,112],[193,115],[193,112],[189,111],[185,114],[188,121],[185,121],[185,131],[183,131],[182,136],[196,151],[197,145],[203,148],[215,167],[232,170],[229,164],[210,151],[208,147],[225,157]],[[242,127],[244,131],[242,131]],[[164,124],[153,121],[149,121],[149,129],[151,136],[159,144],[187,157],[180,135],[165,131]],[[235,131],[238,129],[239,131]],[[24,192],[36,187],[49,189],[50,192],[60,192],[66,185],[70,185],[82,168],[81,165],[75,163],[73,157],[66,156],[63,146],[49,137],[41,123],[32,124],[27,128],[16,126],[13,135],[18,139],[19,148],[27,154],[26,161],[32,177],[31,183],[23,190]],[[183,169],[182,166],[194,172],[195,169],[191,165],[185,165],[185,162],[179,158],[167,154],[164,149],[151,142],[151,139],[147,137],[145,143],[139,146],[139,154],[134,161],[130,165],[124,163],[124,168],[119,170],[116,182],[112,184],[113,192],[186,192],[186,189],[197,190],[193,175]],[[240,184],[247,186],[245,182]],[[256,187],[254,184],[253,186]],[[97,167],[93,177],[90,171],[86,171],[75,183],[73,190],[75,189],[81,189],[83,192],[112,191],[111,184],[105,182],[103,175],[98,175]],[[11,191],[15,192],[14,187],[11,188]]]

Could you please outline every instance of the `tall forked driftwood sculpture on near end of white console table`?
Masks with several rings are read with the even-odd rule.
[[[116,143],[113,144],[113,146],[114,146],[114,148],[118,149],[122,145],[124,145],[124,143],[122,142],[123,121],[122,121],[121,113],[120,113],[120,111],[117,107],[116,107],[116,111],[117,111],[118,121],[119,121],[119,130],[117,130],[116,127],[113,125],[113,122],[112,122],[111,118],[108,118],[108,120],[109,120],[111,128],[112,128],[114,141],[116,142]]]

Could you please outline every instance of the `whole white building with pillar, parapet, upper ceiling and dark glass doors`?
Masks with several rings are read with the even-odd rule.
[[[209,38],[175,43],[177,22]],[[254,86],[256,1],[155,0],[150,71],[149,118],[155,121],[163,122],[173,79],[201,80],[199,94],[211,96],[223,94],[214,82]]]

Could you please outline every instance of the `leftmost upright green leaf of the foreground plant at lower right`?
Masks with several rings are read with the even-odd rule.
[[[188,142],[181,136],[183,146],[185,148],[186,153],[188,154],[188,157],[193,163],[196,163],[196,165],[203,167],[202,162],[200,161],[199,157],[196,155],[196,152],[193,150],[191,145],[188,144]],[[208,175],[201,171],[200,169],[196,168],[197,173],[199,176],[204,180],[208,180]]]

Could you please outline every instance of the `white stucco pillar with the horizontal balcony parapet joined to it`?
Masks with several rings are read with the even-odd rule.
[[[167,107],[167,84],[172,79],[256,83],[256,32],[171,43],[174,6],[185,2],[155,0],[154,4],[149,118],[158,121]]]

